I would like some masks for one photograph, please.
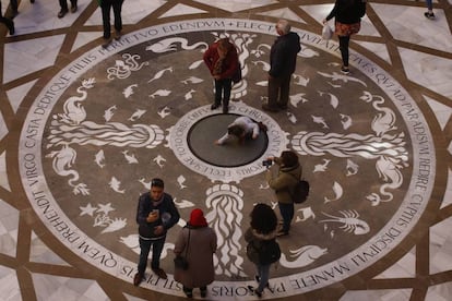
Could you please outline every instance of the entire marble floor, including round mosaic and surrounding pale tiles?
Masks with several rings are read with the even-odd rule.
[[[435,20],[424,1],[369,1],[349,75],[336,38],[320,35],[332,5],[128,0],[123,36],[103,49],[96,1],[63,19],[57,1],[20,1],[15,35],[0,26],[0,300],[182,300],[171,249],[193,207],[218,236],[206,299],[258,300],[242,232],[253,204],[277,212],[261,162],[286,148],[311,193],[262,299],[450,300],[452,1],[433,1]],[[302,47],[288,110],[269,113],[278,19]],[[228,115],[210,109],[202,62],[223,36],[243,72]],[[237,116],[270,130],[230,162],[237,149],[212,142]],[[136,200],[157,176],[181,219],[162,256],[168,279],[148,269],[134,287]]]

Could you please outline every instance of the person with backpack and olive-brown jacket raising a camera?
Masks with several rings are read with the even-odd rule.
[[[271,162],[275,162],[270,167]],[[295,185],[301,178],[301,165],[298,161],[298,155],[293,150],[284,150],[281,157],[269,157],[264,161],[267,167],[265,179],[269,186],[274,190],[279,213],[283,218],[283,227],[277,232],[277,237],[284,237],[289,233],[290,222],[294,218],[294,201],[292,194]]]

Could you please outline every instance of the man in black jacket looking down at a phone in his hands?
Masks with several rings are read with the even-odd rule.
[[[147,265],[147,256],[152,246],[152,270],[162,279],[166,279],[166,273],[159,267],[160,254],[165,244],[166,231],[179,221],[171,195],[164,192],[164,181],[155,178],[151,181],[151,191],[140,196],[136,222],[140,234],[140,262],[138,273],[133,278],[133,285],[139,286],[144,278]]]

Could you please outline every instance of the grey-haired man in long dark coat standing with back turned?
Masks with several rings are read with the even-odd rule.
[[[276,33],[279,36],[270,49],[269,103],[262,105],[263,110],[273,112],[287,109],[290,77],[301,50],[300,37],[290,32],[286,20],[276,23]]]

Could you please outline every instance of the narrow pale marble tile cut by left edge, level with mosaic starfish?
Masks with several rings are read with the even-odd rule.
[[[15,256],[17,246],[19,210],[0,198],[0,253]]]

